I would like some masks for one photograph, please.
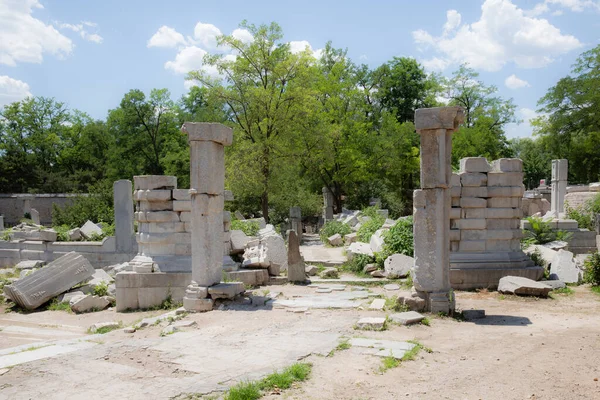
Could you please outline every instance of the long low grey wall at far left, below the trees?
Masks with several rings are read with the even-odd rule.
[[[29,200],[30,207],[40,213],[42,225],[52,225],[52,204],[64,207],[78,195],[69,193],[51,194],[26,194],[26,193],[3,193],[0,194],[0,215],[4,215],[4,225],[10,227],[19,223],[23,218],[26,201]]]

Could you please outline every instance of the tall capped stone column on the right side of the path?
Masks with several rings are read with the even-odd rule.
[[[415,266],[413,281],[426,310],[454,311],[450,287],[450,186],[452,133],[464,118],[461,107],[418,109],[421,189],[414,192]]]

